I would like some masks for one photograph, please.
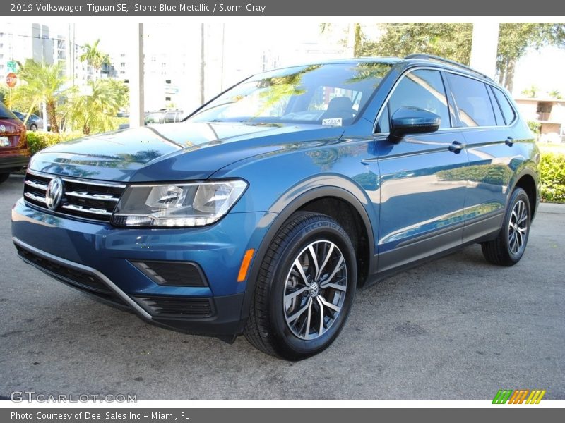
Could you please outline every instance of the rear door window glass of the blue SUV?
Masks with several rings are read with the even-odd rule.
[[[487,86],[465,76],[448,75],[463,126],[496,126]]]

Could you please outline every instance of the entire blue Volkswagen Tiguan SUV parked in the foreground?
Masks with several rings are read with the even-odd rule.
[[[435,56],[261,73],[182,123],[32,157],[13,207],[25,262],[170,329],[299,360],[355,289],[481,243],[511,266],[539,152],[509,93]]]

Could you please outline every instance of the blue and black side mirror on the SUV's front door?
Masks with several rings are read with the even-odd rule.
[[[388,139],[395,144],[406,135],[432,133],[438,130],[441,118],[431,111],[417,107],[400,107],[391,118]]]

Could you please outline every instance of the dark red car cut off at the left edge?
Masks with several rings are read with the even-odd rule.
[[[0,102],[0,183],[11,172],[17,172],[28,166],[30,149],[25,125]]]

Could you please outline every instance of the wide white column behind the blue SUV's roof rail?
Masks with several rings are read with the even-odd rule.
[[[499,47],[499,23],[472,24],[471,67],[492,79],[496,76],[496,53]]]

